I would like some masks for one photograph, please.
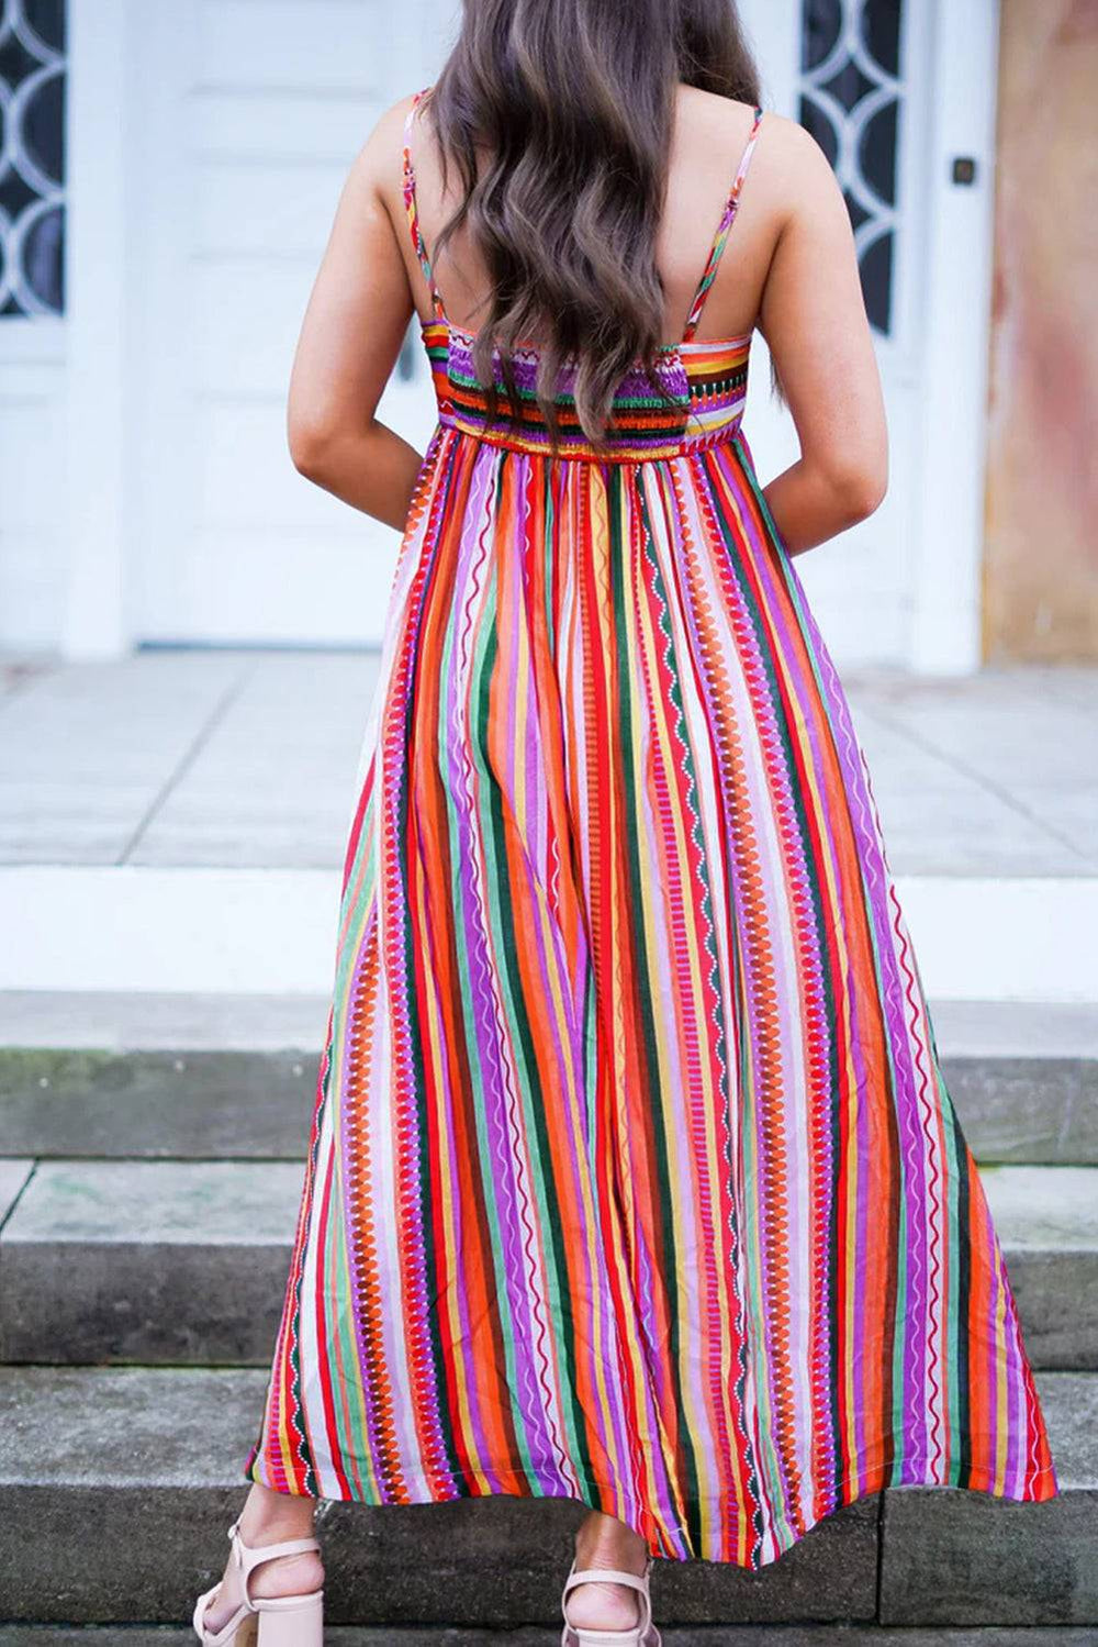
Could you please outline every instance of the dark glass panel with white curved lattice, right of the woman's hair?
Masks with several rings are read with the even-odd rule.
[[[802,0],[800,124],[831,161],[854,227],[869,323],[892,333],[900,234],[902,0]]]

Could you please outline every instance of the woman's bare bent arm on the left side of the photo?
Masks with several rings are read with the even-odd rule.
[[[375,417],[413,313],[385,198],[407,100],[379,120],[336,209],[293,359],[286,433],[301,474],[403,530],[421,458]]]

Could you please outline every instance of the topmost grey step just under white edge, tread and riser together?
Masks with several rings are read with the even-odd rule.
[[[0,1156],[300,1159],[321,996],[0,991]],[[938,1001],[981,1161],[1098,1164],[1098,1006]]]

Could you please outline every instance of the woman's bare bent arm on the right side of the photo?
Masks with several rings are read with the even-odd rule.
[[[792,412],[800,458],[764,497],[790,555],[864,520],[887,488],[881,377],[846,203],[826,156],[784,122],[789,211],[762,292],[762,331]]]

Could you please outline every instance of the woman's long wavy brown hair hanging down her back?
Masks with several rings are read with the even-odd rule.
[[[464,0],[458,44],[425,99],[443,188],[451,163],[461,181],[435,259],[466,226],[489,270],[472,359],[492,417],[500,385],[520,415],[514,351],[530,339],[553,440],[566,361],[594,445],[637,362],[668,399],[655,240],[680,81],[759,102],[734,0]]]

